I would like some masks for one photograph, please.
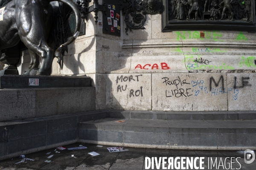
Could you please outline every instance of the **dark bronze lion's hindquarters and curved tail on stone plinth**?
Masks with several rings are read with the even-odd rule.
[[[25,75],[50,75],[54,54],[62,68],[62,49],[79,35],[81,19],[76,4],[71,0],[58,1],[66,3],[75,12],[76,29],[75,35],[69,41],[58,46],[55,53],[52,45],[49,45],[49,41],[47,42],[52,31],[51,0],[1,1],[5,6],[0,7],[0,9],[4,8],[3,19],[0,18],[0,51],[17,45],[21,40],[29,49],[31,57],[30,68]],[[39,69],[37,68],[38,57],[42,58]]]

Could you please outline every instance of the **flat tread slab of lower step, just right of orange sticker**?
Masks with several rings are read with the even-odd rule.
[[[169,133],[169,125],[166,120],[130,119],[124,131]]]

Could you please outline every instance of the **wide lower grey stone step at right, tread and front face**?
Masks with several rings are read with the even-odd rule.
[[[256,149],[256,120],[106,118],[80,122],[78,131],[80,142],[113,146],[195,150]]]

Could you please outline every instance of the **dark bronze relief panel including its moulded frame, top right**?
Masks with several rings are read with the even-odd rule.
[[[254,0],[166,0],[162,30],[255,31]]]

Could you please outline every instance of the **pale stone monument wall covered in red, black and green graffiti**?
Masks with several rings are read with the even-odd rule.
[[[162,32],[161,14],[146,14],[145,29],[130,31],[122,14],[120,37],[103,34],[88,14],[86,34],[68,46],[63,70],[54,59],[52,75],[90,76],[97,109],[256,110],[256,33]],[[28,62],[22,59],[19,69]]]

